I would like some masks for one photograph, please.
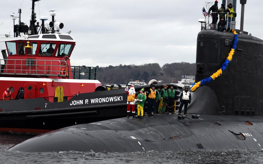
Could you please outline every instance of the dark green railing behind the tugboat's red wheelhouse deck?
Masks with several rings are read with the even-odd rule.
[[[86,66],[68,66],[68,79],[73,77],[73,79],[97,79],[97,67],[86,67]],[[69,72],[72,72],[72,76],[69,76]],[[87,76],[88,74],[88,76]]]

